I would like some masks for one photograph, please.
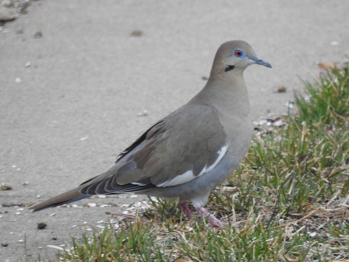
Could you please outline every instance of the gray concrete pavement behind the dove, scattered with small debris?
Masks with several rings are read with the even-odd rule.
[[[10,205],[0,207],[0,243],[8,243],[0,261],[24,259],[24,234],[37,261],[46,245],[79,237],[83,221],[93,226],[108,218],[106,210],[120,211],[31,213],[14,205],[52,197],[109,168],[149,125],[205,85],[220,44],[245,40],[273,66],[245,72],[254,119],[267,110],[285,113],[301,79],[318,75],[318,62],[346,60],[348,13],[347,0],[32,1],[28,14],[0,31],[0,183],[13,185],[0,191],[0,204]],[[142,36],[131,36],[134,30]],[[281,86],[286,93],[276,93]],[[149,115],[139,117],[143,110]],[[37,230],[39,222],[47,227]]]

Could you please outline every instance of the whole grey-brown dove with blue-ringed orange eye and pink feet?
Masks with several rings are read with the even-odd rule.
[[[191,200],[197,212],[222,227],[204,204],[210,190],[228,179],[250,145],[252,123],[243,72],[252,64],[271,67],[244,41],[222,44],[205,87],[192,100],[151,126],[105,173],[29,209],[40,211],[92,195],[141,192],[179,198],[188,219]]]

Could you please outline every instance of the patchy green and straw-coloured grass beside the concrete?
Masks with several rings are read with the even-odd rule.
[[[258,128],[240,167],[213,190],[208,207],[226,229],[151,200],[132,220],[72,238],[58,260],[349,260],[348,64],[328,67],[296,104],[281,126]]]

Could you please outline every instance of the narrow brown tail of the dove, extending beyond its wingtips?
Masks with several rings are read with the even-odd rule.
[[[90,195],[81,194],[77,188],[67,191],[58,196],[52,197],[35,205],[29,206],[28,209],[34,209],[33,212],[38,212],[41,210],[54,208],[55,206],[60,206],[63,204],[68,204],[75,202],[84,198],[90,197]]]

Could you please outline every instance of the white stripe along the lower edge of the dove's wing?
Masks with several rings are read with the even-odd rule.
[[[212,169],[214,169],[215,166],[222,160],[222,158],[224,157],[225,153],[227,153],[227,149],[228,149],[227,145],[223,146],[218,151],[219,155],[218,155],[218,158],[217,158],[216,162],[214,162],[209,167],[205,166],[201,170],[201,172],[200,172],[200,174],[198,176],[201,176],[201,175],[203,175],[203,174],[205,174],[207,172],[210,172]],[[157,187],[170,187],[172,185],[184,184],[186,182],[189,182],[189,181],[193,180],[195,177],[198,177],[198,176],[194,176],[193,171],[189,170],[189,171],[185,172],[184,174],[178,175],[178,176],[174,177],[173,179],[171,179],[169,181],[165,181],[165,182],[159,183],[156,186]]]

